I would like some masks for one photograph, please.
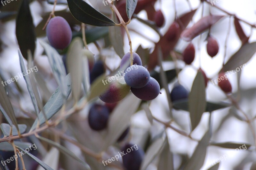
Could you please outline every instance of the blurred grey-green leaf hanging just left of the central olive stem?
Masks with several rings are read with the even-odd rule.
[[[117,22],[116,14],[114,14],[114,21]],[[121,33],[120,26],[109,27],[109,36],[111,44],[116,51],[116,54],[119,55],[120,58],[124,56],[124,40]]]

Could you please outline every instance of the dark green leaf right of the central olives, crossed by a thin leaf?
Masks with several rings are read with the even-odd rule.
[[[161,81],[161,78],[160,78],[160,73],[158,73],[157,71],[155,70],[152,70],[149,72],[150,73],[150,76],[153,77],[154,79],[156,79],[156,81],[159,83],[160,85],[160,89],[163,88],[163,83]],[[167,71],[164,71],[165,73],[165,76],[167,78],[167,82],[171,82],[176,76],[176,70],[175,69],[172,69],[172,70],[167,70]]]

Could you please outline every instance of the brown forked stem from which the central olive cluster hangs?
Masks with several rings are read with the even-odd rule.
[[[129,21],[127,23],[124,22],[124,19],[122,18],[120,12],[117,10],[116,6],[113,4],[113,1],[112,3],[110,4],[111,8],[116,12],[116,15],[118,17],[118,19],[120,20],[120,24],[117,24],[117,26],[123,26],[125,31],[126,31],[126,34],[128,36],[128,40],[129,40],[129,45],[130,45],[130,53],[131,53],[131,58],[130,58],[130,61],[131,61],[131,66],[133,64],[133,57],[132,57],[132,41],[131,41],[131,36],[130,36],[130,33],[129,33],[129,30],[127,28],[127,24],[129,24],[131,22],[131,19],[129,19]]]

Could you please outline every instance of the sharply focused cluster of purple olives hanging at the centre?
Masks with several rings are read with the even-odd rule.
[[[133,65],[130,66],[130,55],[126,53],[121,60],[120,70],[123,73],[118,78],[113,78],[109,88],[100,95],[106,103],[116,103],[122,100],[131,90],[141,100],[153,100],[160,93],[159,83],[152,77],[148,70],[142,66],[140,56],[133,52]],[[124,71],[125,70],[125,71]]]

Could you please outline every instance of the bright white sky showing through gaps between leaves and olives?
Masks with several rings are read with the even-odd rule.
[[[180,16],[181,14],[183,14],[185,12],[188,12],[189,7],[187,5],[186,0],[176,0],[176,1],[177,1],[176,7],[177,7],[178,16]],[[101,4],[101,2],[102,1],[99,0],[98,4]],[[161,8],[164,13],[164,16],[166,18],[165,26],[161,29],[161,33],[164,34],[174,20],[174,9],[173,9],[173,0],[162,0],[161,2],[162,2],[161,4],[157,3],[155,7],[156,7],[156,9]],[[15,3],[15,1],[13,1],[11,3]],[[11,5],[11,3],[8,5]],[[195,9],[199,5],[199,0],[191,0],[191,3],[193,6],[193,9]],[[244,0],[244,1],[220,0],[220,3],[218,3],[216,5],[222,7],[223,9],[226,9],[228,12],[236,14],[236,16],[238,18],[244,19],[252,24],[256,23],[256,1],[254,1],[254,0]],[[35,24],[37,24],[40,20],[40,18],[38,17],[38,12],[39,12],[38,7],[39,7],[39,5],[37,3],[33,3],[31,5],[31,10],[32,10],[33,16],[36,16],[35,20],[34,20]],[[52,5],[49,5],[49,7],[52,8]],[[209,5],[205,5],[204,15],[208,15],[208,8],[209,8]],[[214,7],[211,7],[211,8],[212,8],[212,14],[219,14],[219,15],[224,14],[223,12],[216,10]],[[146,12],[142,11],[139,16],[142,18],[145,18]],[[196,22],[198,19],[200,19],[200,17],[201,17],[201,10],[198,10],[196,12],[195,17],[193,18],[193,21]],[[6,47],[3,47],[4,51],[3,51],[3,53],[0,54],[1,55],[0,65],[4,70],[10,72],[12,75],[17,75],[17,73],[21,73],[21,71],[20,71],[20,64],[19,64],[18,53],[17,53],[18,45],[17,45],[17,40],[15,37],[14,23],[15,23],[14,21],[10,21],[6,24],[6,26],[4,28],[1,28],[1,29],[3,29],[1,31],[4,31],[4,35],[2,35],[1,39],[5,43]],[[249,35],[251,28],[249,26],[247,26],[246,24],[244,24],[243,22],[240,22],[240,23],[243,26],[246,35]],[[236,52],[236,50],[238,50],[238,48],[241,45],[241,42],[235,32],[233,19],[232,19],[231,24],[232,24],[231,32],[230,32],[229,39],[228,39],[228,50],[227,50],[228,57],[230,57],[234,52]],[[189,26],[191,26],[191,25],[192,24],[190,23]],[[156,33],[154,33],[154,31],[152,31],[151,29],[147,29],[147,27],[144,27],[142,24],[140,24],[136,20],[133,20],[131,22],[131,24],[129,25],[129,27],[136,28],[138,32],[141,32],[143,35],[146,35],[148,38],[154,40],[155,42],[157,42],[159,39],[159,37],[157,36]],[[219,42],[219,46],[220,46],[220,51],[219,51],[218,55],[215,56],[213,59],[211,57],[209,57],[206,52],[206,42],[201,41],[201,44],[200,44],[200,48],[201,48],[200,54],[201,54],[201,63],[202,63],[201,67],[205,71],[206,75],[209,78],[213,78],[214,80],[217,78],[217,73],[219,72],[219,70],[222,66],[223,55],[224,55],[224,42],[225,42],[225,38],[227,35],[227,28],[228,28],[228,18],[227,17],[225,17],[225,19],[221,19],[215,26],[212,27],[212,35],[217,39],[217,41]],[[253,29],[253,34],[249,40],[250,42],[256,41],[255,33],[256,33],[255,29]],[[133,44],[134,51],[137,49],[137,47],[140,44],[144,48],[154,48],[153,43],[148,42],[147,40],[141,38],[137,34],[134,34],[131,32],[131,36],[132,36],[132,44]],[[206,35],[203,34],[202,40],[205,39],[205,36]],[[196,37],[192,42],[195,45],[196,49],[198,49],[198,37]],[[128,40],[126,37],[124,38],[124,44],[125,44],[124,52],[126,53],[129,51],[129,44],[128,44]],[[176,49],[178,51],[183,51],[183,49],[186,46],[187,46],[186,42],[180,41],[178,46],[176,47]],[[93,48],[93,46],[91,46],[91,47]],[[40,53],[40,50],[37,50],[37,53]],[[199,51],[197,50],[196,51],[196,59],[193,62],[193,65],[196,67],[199,67],[199,55],[198,54],[199,54]],[[241,57],[243,57],[243,56],[241,56]],[[47,58],[40,58],[40,61],[42,61],[42,63],[44,63],[44,65],[47,65],[47,63],[45,62],[46,60],[47,60]],[[246,64],[246,67],[242,71],[241,88],[249,89],[249,88],[256,87],[255,65],[256,65],[256,58],[254,55],[254,57]],[[182,63],[181,63],[181,66],[183,66]],[[180,83],[182,85],[184,85],[187,89],[190,89],[195,75],[196,75],[196,71],[194,69],[192,69],[190,66],[186,66],[186,68],[179,75]],[[10,78],[11,77],[12,76],[10,76]],[[233,87],[233,92],[235,92],[236,91],[236,75],[230,77],[229,80],[231,81],[231,84]],[[18,82],[22,85],[23,89],[26,90],[25,81],[22,79],[22,80],[19,80]],[[171,87],[172,87],[172,85],[170,86],[170,88]],[[210,82],[208,82],[208,87],[206,90],[207,90],[206,92],[207,92],[208,100],[220,101],[225,98],[225,95],[223,95],[223,93],[218,89],[218,87],[212,85],[212,83],[210,83]],[[162,96],[164,96],[165,93],[164,93],[164,91],[162,91],[162,92],[163,92]],[[152,102],[151,107],[150,107],[152,109],[152,113],[154,115],[156,115],[157,117],[159,116],[160,113],[162,113],[161,112],[162,109],[164,109],[164,107],[167,106],[166,98],[162,97],[162,96],[158,97],[155,102]],[[159,105],[159,104],[161,104],[161,105]],[[161,106],[163,106],[163,108],[161,108]],[[224,109],[223,112],[226,113],[226,112],[228,112],[228,110]],[[213,123],[218,124],[220,119],[224,116],[220,113],[222,113],[222,111],[214,112]],[[188,114],[186,112],[174,112],[174,115],[176,115],[177,118],[181,118],[184,120],[183,122],[180,122],[181,124],[182,123],[187,124],[186,122],[189,121]],[[207,122],[208,116],[209,116],[208,113],[203,115],[202,121],[199,125],[200,127],[198,127],[196,129],[196,131],[193,135],[195,135],[196,137],[202,135],[202,133],[205,130],[204,128],[207,125],[206,122]],[[137,117],[137,115],[136,115],[136,117]],[[138,115],[138,117],[143,117],[143,116]],[[143,117],[143,119],[145,119],[145,117]],[[140,120],[137,120],[137,121],[140,122]],[[136,121],[135,121],[135,123],[136,123]],[[239,143],[246,142],[243,140],[246,139],[245,135],[247,135],[247,134],[244,134],[243,130],[247,126],[244,125],[244,123],[241,123],[240,121],[237,121],[237,120],[230,120],[228,123],[226,123],[227,124],[225,126],[226,129],[223,129],[223,131],[222,131],[223,134],[221,134],[219,136],[215,136],[214,139],[222,141],[222,142],[225,142],[225,141],[236,141]],[[145,124],[147,125],[147,122]],[[230,125],[232,125],[232,126],[230,127]],[[247,131],[249,131],[249,130],[247,130]],[[171,130],[169,132],[170,132],[170,136],[172,136],[172,139],[169,138],[169,141],[171,141],[172,143],[179,143],[179,145],[172,146],[172,150],[177,153],[187,153],[188,152],[189,155],[191,155],[194,147],[196,146],[196,143],[189,142],[189,140],[186,137],[180,137],[180,135],[177,135],[177,133],[175,133]],[[218,152],[215,152],[214,154],[211,154],[211,155],[207,155],[206,162],[205,162],[207,165],[204,166],[202,169],[208,168],[209,166],[211,166],[214,159],[220,158],[220,156],[222,156],[226,153],[230,153],[229,151],[231,151],[231,150],[219,150],[216,147],[210,147],[210,149],[208,151],[213,152],[216,150]],[[244,153],[242,153],[242,151],[237,152],[237,153],[232,152],[232,156],[229,156],[229,158],[227,160],[221,161],[220,169],[221,170],[222,169],[223,170],[230,169],[232,166],[235,166],[237,162],[239,162],[239,161],[237,161],[237,159],[242,159],[243,156],[244,156]]]

